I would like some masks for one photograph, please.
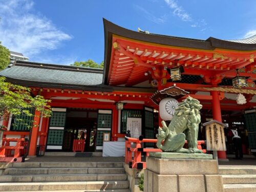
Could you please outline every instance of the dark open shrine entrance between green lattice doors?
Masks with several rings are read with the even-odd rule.
[[[68,109],[62,151],[72,152],[74,142],[81,140],[84,143],[84,152],[94,152],[97,134],[96,122],[97,110]]]

